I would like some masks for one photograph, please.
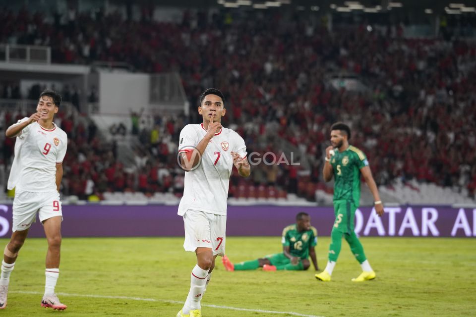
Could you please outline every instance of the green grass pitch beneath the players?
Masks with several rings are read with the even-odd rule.
[[[320,269],[329,237],[316,248]],[[7,239],[0,239],[1,248]],[[308,271],[227,272],[221,261],[202,300],[205,317],[265,316],[469,316],[474,298],[476,239],[361,238],[377,278],[353,283],[360,273],[349,246],[328,283]],[[8,306],[0,316],[175,317],[186,298],[195,256],[182,238],[63,239],[57,292],[64,312],[40,307],[45,239],[27,239],[10,278]],[[229,237],[234,261],[280,252],[279,237]],[[220,260],[221,258],[218,258]],[[132,299],[140,298],[142,300]],[[248,311],[216,308],[226,306]],[[294,314],[272,314],[263,310]]]

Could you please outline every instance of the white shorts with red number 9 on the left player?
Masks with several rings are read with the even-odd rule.
[[[42,223],[56,216],[61,216],[62,221],[60,193],[56,190],[46,193],[15,191],[12,231],[28,229],[33,222],[36,222],[37,212]]]

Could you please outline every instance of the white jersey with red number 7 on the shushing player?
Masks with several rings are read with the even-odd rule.
[[[207,131],[202,124],[187,124],[180,132],[179,153],[195,148]],[[185,172],[183,197],[179,215],[193,209],[214,214],[227,214],[228,187],[233,168],[230,152],[246,158],[244,140],[233,130],[222,128],[210,140],[201,158],[200,165]]]

